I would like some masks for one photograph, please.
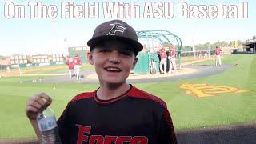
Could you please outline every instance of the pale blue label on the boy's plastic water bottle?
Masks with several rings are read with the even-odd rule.
[[[54,116],[48,118],[42,118],[38,120],[38,127],[40,131],[52,130],[57,126]]]

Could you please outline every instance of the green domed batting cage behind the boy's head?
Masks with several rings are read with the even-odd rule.
[[[157,72],[159,72],[160,61],[158,58],[158,46],[162,45],[169,54],[169,46],[175,46],[178,54],[178,66],[181,68],[181,49],[182,40],[175,34],[167,30],[142,30],[136,32],[138,40],[143,44],[143,50],[138,54],[138,62],[134,67],[134,74],[149,74],[152,60]],[[169,70],[169,61],[167,61],[167,70]]]

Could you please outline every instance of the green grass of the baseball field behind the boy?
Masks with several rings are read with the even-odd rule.
[[[222,62],[238,65],[222,74],[205,78],[191,78],[176,82],[135,83],[134,86],[165,100],[172,115],[175,130],[256,122],[256,55],[225,55]],[[200,64],[213,63],[206,61]],[[20,83],[20,81],[32,79],[33,77],[0,78],[0,138],[35,137],[34,130],[25,115],[26,102],[30,96],[39,92],[50,94],[53,98],[51,107],[59,117],[67,102],[75,94],[92,91],[98,87],[96,84],[80,83]],[[186,94],[186,90],[179,88],[182,83],[234,86],[249,91],[196,98],[194,94]]]

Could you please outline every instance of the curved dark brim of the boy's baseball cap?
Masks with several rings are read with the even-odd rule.
[[[91,38],[87,42],[87,45],[90,47],[90,50],[92,50],[96,44],[103,42],[103,41],[111,40],[111,39],[118,39],[118,40],[121,40],[122,42],[128,43],[130,46],[132,46],[134,48],[135,54],[136,53],[138,54],[138,52],[142,51],[142,49],[143,49],[143,46],[141,43],[134,41],[133,39],[130,39],[130,38],[119,37],[116,35],[105,35],[102,37]]]

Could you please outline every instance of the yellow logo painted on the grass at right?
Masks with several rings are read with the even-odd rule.
[[[207,83],[182,83],[179,87],[185,89],[186,94],[194,94],[198,98],[216,96],[217,94],[222,93],[243,93],[249,91],[240,90],[231,86],[210,86]]]

